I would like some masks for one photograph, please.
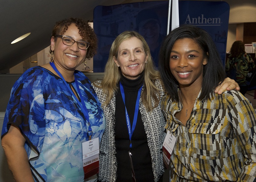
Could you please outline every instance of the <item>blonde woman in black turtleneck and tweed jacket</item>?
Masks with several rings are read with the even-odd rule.
[[[120,83],[124,90],[124,101]],[[223,91],[229,84],[235,87],[234,83],[227,82],[220,90]],[[100,146],[98,181],[132,181],[128,154],[130,143],[136,180],[162,181],[165,121],[160,99],[164,95],[164,88],[145,39],[134,31],[125,31],[117,36],[110,49],[103,80],[92,85],[106,117],[106,131]],[[136,111],[138,94],[139,110]],[[130,128],[136,122],[131,141],[125,109]],[[137,119],[134,121],[135,115]]]

